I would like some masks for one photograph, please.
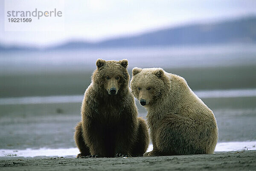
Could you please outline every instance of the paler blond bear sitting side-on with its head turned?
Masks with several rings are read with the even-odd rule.
[[[215,117],[185,79],[162,68],[134,68],[131,92],[147,113],[153,150],[143,156],[213,154]]]

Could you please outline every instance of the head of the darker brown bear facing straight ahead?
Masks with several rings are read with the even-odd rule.
[[[93,86],[104,94],[116,95],[129,89],[129,74],[127,71],[128,61],[96,61],[97,69],[92,76]]]

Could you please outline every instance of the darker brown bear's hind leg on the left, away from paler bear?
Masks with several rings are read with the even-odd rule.
[[[79,151],[81,152],[76,157],[80,158],[80,157],[89,156],[90,155],[89,148],[84,143],[84,138],[83,138],[83,133],[82,133],[82,123],[79,122],[75,129],[76,129],[76,131],[75,131],[74,139],[76,142],[76,146],[78,147]]]

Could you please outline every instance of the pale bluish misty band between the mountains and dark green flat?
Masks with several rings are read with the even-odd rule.
[[[162,67],[165,70],[174,70],[254,66],[255,47],[256,42],[79,50],[0,50],[0,75],[81,71],[91,73],[96,69],[95,62],[98,58],[128,59],[128,70],[133,67]]]

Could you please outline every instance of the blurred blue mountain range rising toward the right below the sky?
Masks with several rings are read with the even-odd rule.
[[[151,31],[138,36],[125,36],[96,43],[71,41],[47,48],[46,50],[220,43],[256,43],[256,17],[244,17],[216,23],[184,25]],[[17,50],[22,49],[19,47],[6,49],[0,46],[0,50],[15,50],[15,48]]]

